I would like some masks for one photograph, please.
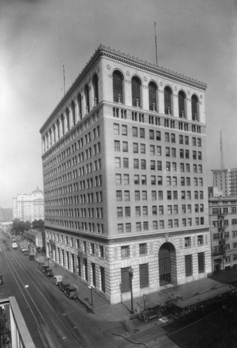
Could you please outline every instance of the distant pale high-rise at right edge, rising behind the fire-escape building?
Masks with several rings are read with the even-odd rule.
[[[222,191],[222,196],[237,196],[237,168],[213,169],[213,186]]]

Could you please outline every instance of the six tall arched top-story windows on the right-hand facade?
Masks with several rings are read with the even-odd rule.
[[[113,72],[113,98],[114,102],[125,104],[125,78],[119,70]],[[142,108],[142,79],[137,76],[131,79],[132,106]],[[165,114],[174,113],[174,93],[170,86],[164,88]],[[158,111],[158,84],[151,81],[148,84],[149,110]],[[192,120],[199,120],[199,97],[191,96]],[[178,116],[187,118],[187,95],[183,90],[178,91]]]

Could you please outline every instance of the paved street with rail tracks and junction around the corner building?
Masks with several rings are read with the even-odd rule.
[[[130,320],[128,313],[128,320],[110,322],[79,299],[68,299],[36,261],[11,248],[10,239],[1,239],[0,248],[0,296],[15,296],[36,347],[235,347],[236,317],[221,309],[183,319],[167,313],[147,323]]]

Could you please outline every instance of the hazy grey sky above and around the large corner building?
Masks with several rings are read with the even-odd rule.
[[[100,44],[204,81],[208,185],[237,167],[237,0],[0,0],[0,207],[43,189],[40,127]]]

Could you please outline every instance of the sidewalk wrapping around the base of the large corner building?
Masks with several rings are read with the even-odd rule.
[[[36,255],[36,261],[45,262],[45,257],[43,255]],[[47,262],[45,262],[47,264]],[[66,280],[70,285],[77,288],[77,293],[79,301],[84,304],[84,306],[91,310],[93,313],[98,315],[101,319],[107,320],[108,322],[125,321],[131,316],[131,301],[125,301],[123,303],[118,303],[111,305],[102,299],[95,290],[93,290],[93,307],[91,306],[91,291],[88,288],[87,283],[83,280],[77,279],[73,274],[71,274],[67,269],[61,267],[61,265],[50,261],[49,267],[54,272],[54,275],[61,275],[63,279]],[[164,289],[159,292],[154,292],[153,294],[146,294],[146,306],[154,306],[155,304],[164,304],[168,299],[176,299],[177,297],[192,296],[197,292],[205,292],[210,290],[212,287],[220,287],[222,284],[229,284],[231,282],[236,282],[237,285],[237,270],[233,269],[230,271],[222,271],[215,276],[210,278],[204,278],[201,280],[196,280],[192,283],[184,285],[165,285]],[[133,301],[133,306],[135,313],[137,308],[142,310],[144,308],[143,297],[135,298]]]

